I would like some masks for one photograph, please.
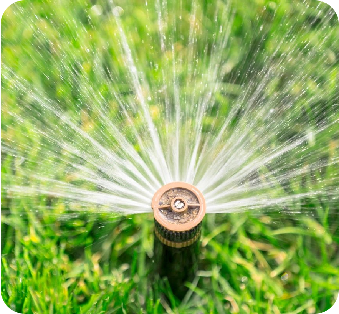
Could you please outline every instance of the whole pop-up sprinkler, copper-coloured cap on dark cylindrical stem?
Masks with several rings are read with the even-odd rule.
[[[154,194],[152,208],[156,274],[167,277],[173,293],[182,298],[188,290],[185,282],[197,271],[205,199],[195,186],[173,182]]]

